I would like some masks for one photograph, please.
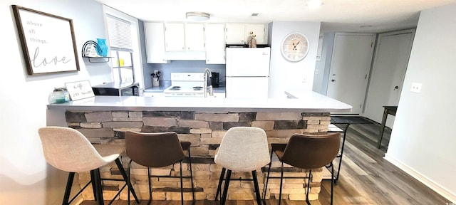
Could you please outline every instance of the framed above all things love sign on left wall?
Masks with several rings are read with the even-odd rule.
[[[12,7],[28,75],[79,70],[73,20]]]

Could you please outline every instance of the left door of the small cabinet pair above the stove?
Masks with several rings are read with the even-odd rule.
[[[184,23],[165,23],[165,50],[185,51]]]

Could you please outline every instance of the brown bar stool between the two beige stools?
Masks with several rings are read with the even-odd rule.
[[[135,162],[147,167],[147,179],[149,182],[149,201],[152,202],[152,184],[150,177],[150,167],[166,167],[180,162],[180,197],[181,203],[184,204],[184,193],[182,185],[182,161],[188,154],[190,165],[190,180],[192,183],[192,196],[195,201],[195,190],[193,187],[192,159],[190,156],[190,142],[179,142],[176,132],[160,133],[143,133],[143,132],[125,132],[125,149],[131,162]],[[160,176],[163,177],[163,176]],[[169,176],[171,177],[171,176]],[[186,177],[188,178],[188,177]],[[128,179],[130,180],[130,169],[128,169]],[[128,195],[128,204],[130,204],[130,194]]]

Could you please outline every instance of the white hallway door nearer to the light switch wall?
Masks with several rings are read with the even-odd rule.
[[[378,36],[364,117],[381,123],[383,106],[398,105],[414,33],[415,30],[406,30]],[[392,127],[394,117],[387,119],[386,125]]]

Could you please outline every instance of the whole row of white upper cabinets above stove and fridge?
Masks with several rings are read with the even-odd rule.
[[[266,23],[145,22],[147,63],[198,60],[224,64],[226,44],[248,44],[254,32],[257,44],[267,44]]]

